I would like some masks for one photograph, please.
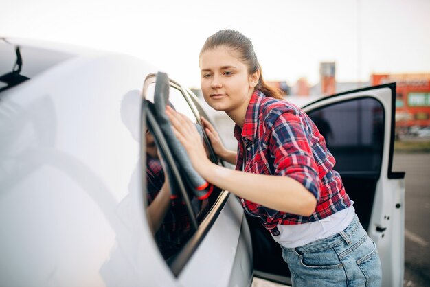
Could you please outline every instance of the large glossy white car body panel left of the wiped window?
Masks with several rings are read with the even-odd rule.
[[[174,285],[133,179],[139,122],[121,114],[153,71],[77,56],[1,94],[0,285]]]

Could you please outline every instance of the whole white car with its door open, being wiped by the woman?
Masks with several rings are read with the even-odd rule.
[[[291,284],[280,246],[233,194],[192,186],[154,109],[157,72],[131,56],[0,39],[0,286]],[[199,99],[161,84],[199,125]],[[403,286],[395,91],[385,84],[304,107],[376,242],[383,286]],[[151,210],[167,179],[168,208]]]

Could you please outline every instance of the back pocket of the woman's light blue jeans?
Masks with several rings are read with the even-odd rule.
[[[371,239],[369,238],[369,240]],[[372,252],[357,260],[357,265],[359,266],[361,272],[363,272],[363,275],[366,279],[365,286],[381,286],[381,261],[379,260],[376,244],[372,240],[371,242],[373,244]]]

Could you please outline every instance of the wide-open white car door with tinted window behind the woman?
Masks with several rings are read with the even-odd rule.
[[[405,173],[392,172],[395,91],[396,84],[385,84],[324,97],[303,107],[326,138],[336,159],[335,170],[376,243],[383,286],[403,286],[404,270]],[[255,274],[288,284],[279,247],[258,222],[248,219]]]

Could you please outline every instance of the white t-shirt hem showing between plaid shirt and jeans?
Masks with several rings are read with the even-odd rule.
[[[272,237],[286,248],[304,246],[315,240],[328,238],[346,229],[354,218],[354,214],[355,209],[351,205],[319,221],[303,223],[301,225],[278,225],[280,235],[272,235]]]

